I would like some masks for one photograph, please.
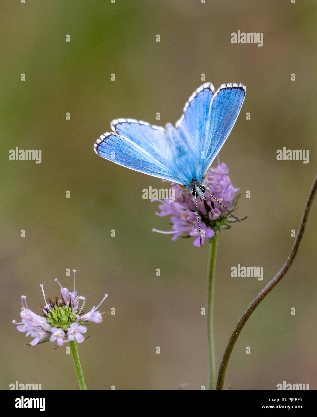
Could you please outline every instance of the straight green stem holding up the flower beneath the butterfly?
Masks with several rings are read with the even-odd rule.
[[[217,256],[217,233],[209,243],[209,261],[207,269],[207,338],[209,352],[209,389],[216,388],[216,358],[214,345],[214,288]]]

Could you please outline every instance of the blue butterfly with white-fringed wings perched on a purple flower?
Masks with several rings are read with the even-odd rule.
[[[211,83],[204,83],[189,97],[175,127],[116,119],[110,124],[112,132],[96,140],[94,151],[118,165],[184,185],[195,198],[204,198],[204,176],[229,136],[245,94],[242,84],[222,84],[215,92]]]

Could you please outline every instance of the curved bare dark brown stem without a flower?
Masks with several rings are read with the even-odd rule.
[[[302,220],[301,220],[301,222],[299,224],[299,228],[297,230],[297,234],[296,234],[296,238],[295,238],[295,241],[294,241],[294,245],[292,247],[292,251],[289,254],[289,256],[288,256],[285,264],[283,265],[282,269],[279,270],[279,272],[274,276],[274,278],[271,281],[269,281],[269,284],[267,284],[262,289],[262,291],[255,297],[255,299],[249,305],[249,307],[247,308],[247,310],[244,312],[243,316],[239,320],[238,324],[234,328],[234,331],[233,331],[233,333],[230,337],[229,343],[227,344],[226,350],[224,351],[224,356],[222,357],[222,361],[221,361],[220,368],[219,368],[219,373],[218,373],[218,380],[217,380],[216,389],[222,389],[222,387],[224,385],[224,376],[225,376],[225,373],[226,373],[226,367],[228,365],[228,361],[229,361],[232,349],[234,347],[234,344],[236,343],[236,339],[238,339],[238,337],[239,337],[239,334],[240,334],[244,324],[246,324],[247,319],[249,319],[249,317],[251,316],[253,311],[257,308],[257,306],[264,299],[264,297],[267,296],[267,294],[269,294],[269,292],[274,288],[274,286],[279,281],[281,281],[283,276],[287,273],[290,266],[292,265],[296,255],[299,251],[299,246],[300,246],[300,244],[302,242],[302,239],[303,239],[303,236],[304,236],[304,231],[305,231],[305,227],[306,227],[306,224],[307,224],[309,211],[310,211],[310,208],[312,206],[312,202],[314,200],[316,190],[317,190],[317,174],[316,174],[314,182],[312,184],[312,188],[309,191],[309,195],[308,195],[308,198],[307,198],[307,201],[306,201],[306,204],[305,204],[305,207],[304,207],[304,211],[303,211],[303,214],[302,214]]]

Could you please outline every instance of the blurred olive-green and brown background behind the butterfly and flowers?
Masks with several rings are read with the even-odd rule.
[[[116,308],[89,325],[78,348],[88,389],[200,389],[208,245],[153,233],[169,230],[169,218],[155,215],[158,205],[143,200],[142,189],[161,181],[98,157],[93,142],[114,118],[175,123],[201,73],[215,88],[247,86],[219,154],[241,189],[236,214],[248,216],[219,239],[219,365],[242,313],[284,264],[315,175],[316,2],[26,0],[0,10],[1,388],[19,381],[77,389],[65,346],[25,346],[31,338],[11,323],[22,294],[40,313],[40,284],[48,297],[59,294],[55,278],[71,287],[70,268],[80,270],[76,289],[89,294],[87,309],[105,292],[101,311]],[[231,44],[238,30],[263,32],[263,47]],[[9,161],[16,146],[42,149],[42,163]],[[309,149],[309,163],[277,161],[284,146]],[[276,389],[286,381],[317,389],[316,214],[315,201],[299,255],[244,327],[224,388]],[[231,278],[237,264],[263,266],[264,280]]]

